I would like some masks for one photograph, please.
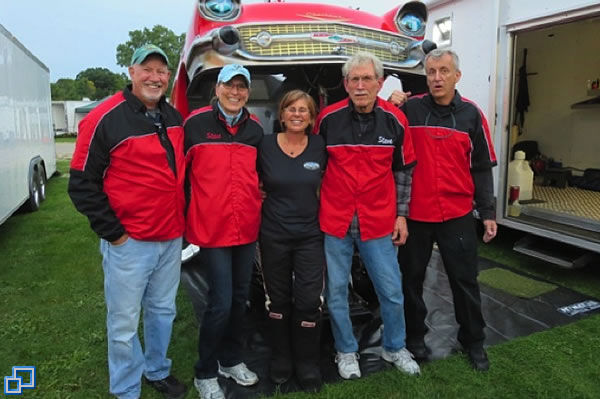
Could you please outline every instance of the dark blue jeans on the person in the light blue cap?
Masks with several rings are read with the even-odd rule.
[[[200,249],[209,291],[198,338],[197,378],[217,377],[219,363],[231,367],[242,362],[243,323],[255,253],[255,242]]]

